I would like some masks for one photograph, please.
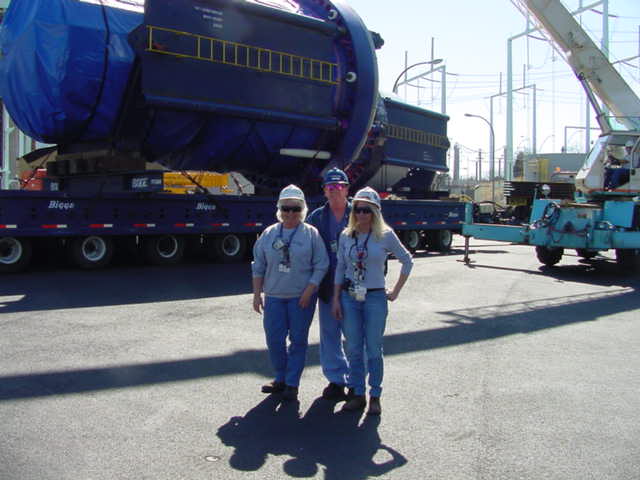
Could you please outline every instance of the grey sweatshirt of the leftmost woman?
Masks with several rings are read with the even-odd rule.
[[[295,298],[310,283],[320,285],[329,268],[329,257],[318,230],[308,223],[301,223],[297,230],[281,228],[281,223],[267,227],[253,247],[251,271],[254,277],[263,277],[265,295],[278,298]],[[295,234],[293,232],[295,231]],[[293,239],[290,241],[291,235]],[[289,243],[289,272],[281,272],[282,249],[278,240]]]

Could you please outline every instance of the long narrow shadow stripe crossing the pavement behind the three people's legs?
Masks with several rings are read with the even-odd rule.
[[[438,312],[445,326],[387,335],[385,356],[445,348],[526,334],[575,323],[597,321],[638,308],[637,291],[630,288],[585,295],[538,299]],[[319,364],[319,347],[309,345],[307,365]],[[220,375],[271,375],[266,349],[228,355],[154,362],[86,370],[0,376],[0,401],[130,388]]]

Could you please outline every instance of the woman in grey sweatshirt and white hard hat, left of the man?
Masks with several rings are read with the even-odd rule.
[[[307,215],[302,190],[295,185],[283,188],[277,207],[278,222],[267,227],[253,247],[253,308],[264,311],[267,347],[275,370],[274,381],[264,385],[262,392],[283,393],[285,400],[295,400],[315,295],[329,258],[318,230],[302,221]]]

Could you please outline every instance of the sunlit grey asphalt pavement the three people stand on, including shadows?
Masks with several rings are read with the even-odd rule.
[[[391,304],[380,418],[320,398],[317,318],[299,402],[260,393],[248,264],[0,277],[0,480],[639,479],[640,276],[462,245]]]

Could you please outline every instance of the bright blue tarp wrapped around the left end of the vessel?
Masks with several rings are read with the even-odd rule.
[[[142,21],[86,1],[13,0],[0,28],[0,96],[16,125],[45,143],[107,137],[134,60],[127,35]]]

